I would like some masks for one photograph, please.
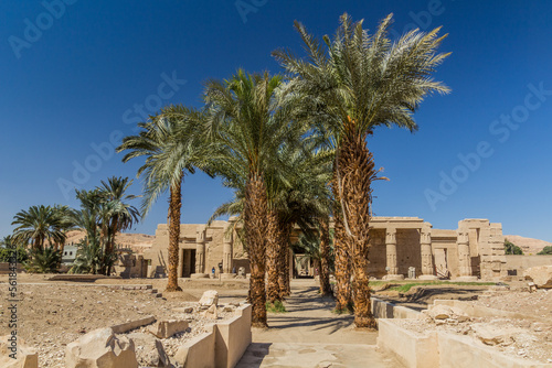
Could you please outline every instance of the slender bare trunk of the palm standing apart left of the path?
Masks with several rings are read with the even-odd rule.
[[[179,259],[179,239],[180,239],[180,208],[182,206],[182,176],[180,181],[171,186],[171,197],[169,203],[170,219],[169,219],[169,264],[167,289],[164,291],[182,291],[178,285],[178,259]]]

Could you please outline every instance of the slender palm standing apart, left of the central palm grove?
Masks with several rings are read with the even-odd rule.
[[[137,176],[144,176],[142,216],[167,190],[169,196],[169,262],[166,291],[182,291],[178,285],[180,210],[182,182],[195,169],[209,172],[209,145],[202,139],[202,112],[181,105],[168,106],[148,122],[140,122],[138,136],[124,138],[117,152],[128,150],[123,162],[146,156]]]

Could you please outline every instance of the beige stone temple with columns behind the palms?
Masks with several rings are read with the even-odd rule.
[[[234,224],[235,218],[210,226],[182,224],[179,277],[208,278],[213,268],[216,278],[232,278],[238,269],[248,273],[247,253]],[[445,230],[417,217],[373,217],[370,227],[371,277],[498,281],[507,275],[501,224],[469,218],[460,220],[457,229]],[[291,242],[298,236],[299,229],[295,229]],[[160,224],[153,246],[144,255],[147,277],[167,274],[168,246],[167,224]],[[301,258],[291,252],[289,258],[293,270]]]

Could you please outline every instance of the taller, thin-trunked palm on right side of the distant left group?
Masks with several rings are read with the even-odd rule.
[[[127,203],[127,201],[136,199],[136,195],[126,194],[128,188],[132,185],[132,181],[128,177],[109,177],[107,182],[102,181],[102,186],[98,187],[102,199],[106,202],[109,207],[107,221],[107,242],[105,252],[112,255],[115,251],[115,237],[117,232],[127,230],[132,227],[135,223],[139,221],[140,213],[135,207]],[[113,264],[106,264],[104,272],[110,275]]]

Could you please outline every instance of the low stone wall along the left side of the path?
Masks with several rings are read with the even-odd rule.
[[[180,347],[174,358],[184,368],[233,368],[252,342],[252,306],[240,306],[229,321],[208,326],[206,333]]]

